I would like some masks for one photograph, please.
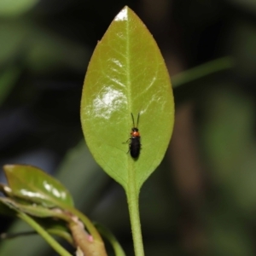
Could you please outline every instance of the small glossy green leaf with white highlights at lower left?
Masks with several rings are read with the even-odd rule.
[[[73,198],[54,177],[34,166],[3,166],[11,195],[45,207],[73,207]]]

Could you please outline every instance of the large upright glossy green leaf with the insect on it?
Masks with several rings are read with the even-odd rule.
[[[141,153],[127,153],[132,119],[140,113]],[[154,38],[136,14],[119,12],[91,57],[81,102],[84,137],[91,154],[127,191],[139,189],[159,166],[174,119],[172,86]]]

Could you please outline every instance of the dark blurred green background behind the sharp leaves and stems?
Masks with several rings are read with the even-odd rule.
[[[1,165],[58,177],[133,255],[125,194],[92,159],[79,121],[90,55],[125,5],[154,35],[175,86],[172,142],[141,194],[146,255],[256,255],[255,0],[0,0]],[[232,68],[186,73],[224,56]],[[7,230],[29,227],[1,216]],[[0,255],[56,254],[26,236],[1,241]]]

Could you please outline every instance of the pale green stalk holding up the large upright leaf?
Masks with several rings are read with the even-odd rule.
[[[126,190],[128,208],[131,219],[131,233],[134,244],[134,252],[136,256],[144,256],[143,236],[141,229],[141,221],[139,216],[139,192],[136,189],[134,170],[131,170],[129,182]]]

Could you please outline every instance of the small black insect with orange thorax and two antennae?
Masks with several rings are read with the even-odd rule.
[[[140,117],[140,113],[137,114],[137,125],[138,125],[139,117]],[[132,113],[131,113],[131,119],[132,119],[133,127],[131,128],[131,137],[128,139],[130,140],[129,151],[130,151],[131,157],[134,159],[137,159],[140,154],[141,146],[142,146],[141,136],[138,131],[137,125],[135,125],[134,123],[134,117]]]

